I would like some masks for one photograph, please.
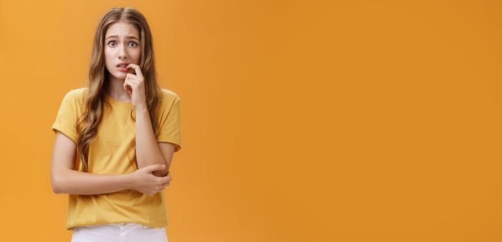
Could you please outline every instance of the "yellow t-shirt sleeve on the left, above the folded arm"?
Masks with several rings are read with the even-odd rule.
[[[52,131],[54,133],[56,133],[56,130],[60,131],[61,133],[64,133],[65,136],[71,138],[71,140],[75,143],[77,143],[78,137],[76,131],[76,105],[75,96],[71,91],[69,91],[66,95],[64,95],[58,115],[56,115],[55,122],[52,124]]]

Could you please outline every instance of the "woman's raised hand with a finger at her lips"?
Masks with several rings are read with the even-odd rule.
[[[132,98],[132,106],[135,109],[148,108],[146,106],[145,95],[145,79],[141,69],[137,64],[128,64],[126,68],[134,68],[135,74],[128,73],[126,80],[123,83],[123,88],[129,93]]]

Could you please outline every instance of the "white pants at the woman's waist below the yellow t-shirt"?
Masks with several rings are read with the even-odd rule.
[[[164,227],[139,223],[107,223],[73,228],[71,242],[168,242]]]

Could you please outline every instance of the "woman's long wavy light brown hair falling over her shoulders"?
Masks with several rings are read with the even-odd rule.
[[[155,71],[155,56],[153,54],[153,39],[148,23],[145,17],[135,10],[135,8],[112,8],[105,13],[96,28],[94,35],[94,44],[92,46],[92,56],[89,63],[89,79],[87,80],[87,89],[85,89],[85,108],[83,115],[77,121],[76,129],[78,133],[77,155],[83,165],[83,171],[88,171],[89,147],[92,140],[98,132],[99,124],[103,117],[104,104],[110,108],[111,105],[106,100],[106,93],[109,88],[109,76],[105,66],[105,33],[114,23],[123,21],[132,24],[141,34],[141,57],[139,68],[143,73],[145,84],[146,105],[150,114],[150,121],[153,127],[153,133],[157,137],[159,127],[157,126],[157,106],[160,102],[160,88],[157,84],[157,73]],[[111,109],[110,109],[111,111]],[[130,117],[135,120],[135,110],[132,109]],[[132,140],[130,147],[136,157],[136,138]]]

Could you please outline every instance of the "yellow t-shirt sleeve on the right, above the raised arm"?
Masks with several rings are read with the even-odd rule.
[[[171,104],[164,106],[157,142],[169,142],[175,145],[175,152],[181,149],[181,113],[180,97],[176,96]]]

